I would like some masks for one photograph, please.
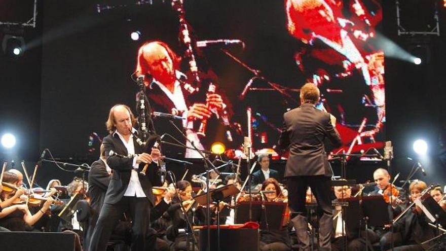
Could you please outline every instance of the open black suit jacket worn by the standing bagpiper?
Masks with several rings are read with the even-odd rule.
[[[104,203],[116,204],[118,203],[130,182],[130,175],[133,169],[133,158],[121,158],[118,156],[109,156],[110,150],[115,153],[127,156],[128,152],[124,143],[119,138],[119,135],[109,134],[102,140],[105,148],[105,156],[107,158],[107,164],[113,169],[112,180],[105,194]],[[141,147],[137,144],[136,140],[133,138],[133,145],[135,147],[135,154],[142,153]],[[152,186],[161,186],[161,177],[158,173],[158,166],[156,163],[152,162],[147,168],[146,175],[139,174],[139,171],[144,167],[144,163],[139,165],[138,177],[141,184],[142,190],[146,195],[147,199],[154,204],[154,195],[152,192]]]

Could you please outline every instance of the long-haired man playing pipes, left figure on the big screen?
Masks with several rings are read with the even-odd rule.
[[[166,43],[146,42],[138,50],[136,74],[145,76],[147,97],[153,110],[183,117],[183,123],[179,125],[179,128],[184,128],[188,138],[194,141],[197,148],[204,149],[193,122],[210,119],[213,111],[221,112],[226,104],[217,93],[206,95],[206,100],[202,102],[193,101],[192,99],[196,99],[195,94],[191,95],[186,85],[182,84],[183,81],[180,81],[180,79],[186,79],[186,76],[180,72],[180,59]],[[203,85],[202,90],[205,91],[207,88],[208,86]],[[208,105],[203,101],[206,101]],[[158,122],[157,126],[163,131],[171,127],[171,125],[163,124],[163,121]],[[172,134],[175,136],[176,132]],[[189,141],[186,144],[192,147]],[[170,148],[166,146],[165,149]],[[185,157],[201,158],[195,150],[190,149],[186,150]]]

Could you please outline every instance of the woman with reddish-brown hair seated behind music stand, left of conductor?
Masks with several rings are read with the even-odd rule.
[[[262,191],[273,192],[264,194],[264,199],[269,202],[274,202],[279,194],[282,194],[280,185],[275,178],[267,178],[267,180],[262,183]],[[288,228],[283,227],[280,230],[261,229],[259,247],[262,251],[291,250]]]

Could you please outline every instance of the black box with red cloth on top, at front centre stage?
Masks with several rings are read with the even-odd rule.
[[[210,230],[211,250],[217,250],[217,229]],[[200,250],[207,248],[207,230],[200,230]],[[258,229],[220,229],[220,250],[258,251]]]

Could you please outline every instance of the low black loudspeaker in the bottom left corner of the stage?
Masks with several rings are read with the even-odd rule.
[[[75,250],[75,233],[0,232],[2,251]]]

